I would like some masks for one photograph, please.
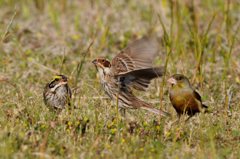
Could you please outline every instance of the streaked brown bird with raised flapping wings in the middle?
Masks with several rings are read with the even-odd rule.
[[[162,116],[169,115],[137,98],[132,91],[146,91],[152,79],[165,73],[164,67],[152,66],[157,56],[157,46],[154,39],[144,37],[129,44],[111,62],[103,57],[92,61],[105,93],[117,103],[120,110],[125,112],[125,109],[140,108]]]

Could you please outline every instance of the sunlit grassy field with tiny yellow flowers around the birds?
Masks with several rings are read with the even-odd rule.
[[[240,158],[240,2],[237,0],[1,0],[0,158]],[[168,111],[116,117],[91,61],[142,36],[159,39],[166,77],[138,96]],[[74,109],[43,103],[55,74]],[[177,119],[166,78],[182,73],[209,106]]]

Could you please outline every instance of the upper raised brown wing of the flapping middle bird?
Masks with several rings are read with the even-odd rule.
[[[115,74],[132,70],[150,68],[157,56],[158,44],[150,38],[134,41],[122,50],[112,60],[112,69]]]

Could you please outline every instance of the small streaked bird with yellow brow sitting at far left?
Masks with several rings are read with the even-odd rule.
[[[43,91],[45,105],[54,111],[60,111],[71,105],[71,89],[68,86],[68,78],[64,75],[56,75],[54,79],[46,84]]]

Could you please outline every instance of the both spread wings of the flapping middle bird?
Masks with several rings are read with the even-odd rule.
[[[112,69],[121,85],[146,90],[150,80],[163,73],[162,69],[160,71],[158,68],[152,68],[157,52],[157,42],[145,37],[136,40],[114,57]]]

